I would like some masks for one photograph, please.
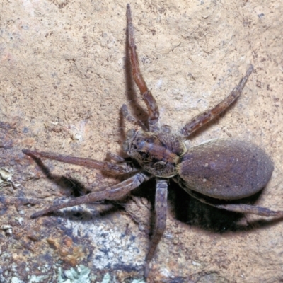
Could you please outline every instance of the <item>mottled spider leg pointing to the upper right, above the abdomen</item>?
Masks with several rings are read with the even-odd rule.
[[[246,75],[243,76],[240,83],[238,83],[238,86],[233,88],[233,91],[229,94],[229,96],[227,96],[223,101],[221,101],[221,103],[217,104],[214,108],[209,109],[203,112],[202,114],[192,118],[192,120],[190,120],[190,122],[188,122],[181,129],[181,134],[183,134],[183,136],[185,137],[190,136],[190,134],[197,131],[197,129],[200,129],[200,127],[202,127],[204,124],[207,124],[207,122],[210,122],[221,112],[229,108],[229,106],[241,95],[243,87],[245,86],[246,81],[248,81],[248,77],[252,72],[253,65],[250,65],[250,67],[246,71]]]

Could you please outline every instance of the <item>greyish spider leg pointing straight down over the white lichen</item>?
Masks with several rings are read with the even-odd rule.
[[[156,182],[154,235],[146,255],[145,277],[149,272],[149,262],[154,257],[154,252],[166,228],[168,180],[156,178]]]

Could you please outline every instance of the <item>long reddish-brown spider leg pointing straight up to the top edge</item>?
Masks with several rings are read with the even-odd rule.
[[[129,7],[129,4],[127,4],[127,37],[129,39],[132,76],[141,92],[141,98],[146,103],[147,110],[149,111],[149,130],[154,132],[157,129],[156,123],[159,119],[159,110],[156,100],[149,91],[149,88],[147,88],[144,78],[141,76],[141,71],[139,70],[139,59],[137,57],[137,47],[134,42],[134,26],[132,24],[131,8]]]

